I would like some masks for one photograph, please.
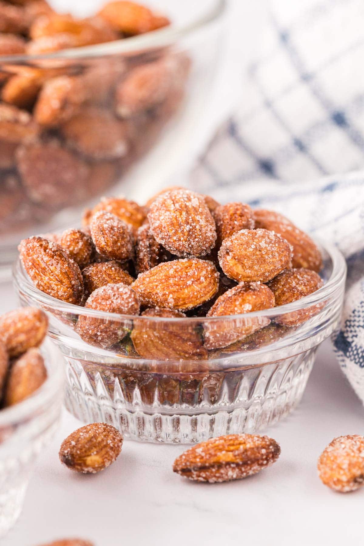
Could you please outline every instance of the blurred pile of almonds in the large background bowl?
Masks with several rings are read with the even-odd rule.
[[[184,95],[189,59],[168,49],[40,60],[169,25],[118,0],[86,19],[46,0],[0,0],[0,232],[43,222],[115,183]]]

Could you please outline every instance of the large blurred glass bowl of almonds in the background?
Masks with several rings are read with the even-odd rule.
[[[103,3],[91,2],[82,15],[95,13]],[[65,4],[59,5],[61,11],[69,8]],[[163,187],[172,174],[193,160],[217,72],[225,0],[147,4],[168,15],[172,25],[49,55],[0,57],[2,80],[17,74],[29,76],[34,70],[41,74],[44,86],[58,79],[56,93],[67,110],[59,121],[45,111],[39,116],[42,125],[23,119],[20,129],[11,120],[9,127],[0,126],[3,274],[14,261],[20,239],[68,227],[106,189],[143,201],[146,187],[148,194]],[[157,72],[153,70],[156,64]],[[167,66],[168,81],[162,75],[156,87],[154,79],[156,102],[138,111],[118,108],[120,82],[140,68],[157,73],[158,81],[161,64],[162,74]],[[71,96],[64,91],[64,76],[72,80]],[[33,99],[29,97],[29,104]],[[75,121],[70,123],[70,118]],[[35,150],[34,138],[40,140]]]

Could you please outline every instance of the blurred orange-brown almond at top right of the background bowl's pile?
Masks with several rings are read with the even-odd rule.
[[[153,13],[146,6],[126,0],[105,4],[99,15],[117,31],[127,35],[143,34],[170,24],[169,19]]]

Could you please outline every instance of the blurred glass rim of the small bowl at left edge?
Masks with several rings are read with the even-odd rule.
[[[52,361],[63,357],[59,353],[58,347],[49,339],[49,337],[44,339],[41,347],[44,347],[45,349],[45,363],[47,371],[49,371],[47,359]],[[0,427],[20,423],[22,420],[29,418],[29,416],[32,417],[33,412],[37,412],[47,400],[52,400],[58,391],[63,390],[63,366],[54,365],[51,367],[51,373],[48,373],[43,385],[41,385],[41,387],[39,387],[31,396],[14,406],[0,410]]]

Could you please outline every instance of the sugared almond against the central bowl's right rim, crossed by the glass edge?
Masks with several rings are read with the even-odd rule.
[[[323,286],[324,282],[315,272],[304,268],[285,269],[273,278],[268,286],[272,290],[276,299],[276,306],[289,304],[291,301],[297,301],[309,294],[313,294]],[[307,319],[317,314],[323,307],[322,304],[312,305],[299,311],[291,311],[276,317],[278,324],[285,326],[294,326],[307,321]]]

